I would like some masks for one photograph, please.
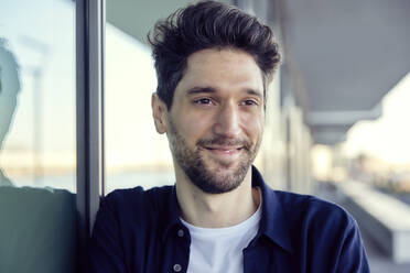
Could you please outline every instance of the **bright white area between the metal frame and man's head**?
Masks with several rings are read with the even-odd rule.
[[[157,133],[151,95],[155,70],[148,45],[106,28],[106,194],[174,183],[166,136]]]

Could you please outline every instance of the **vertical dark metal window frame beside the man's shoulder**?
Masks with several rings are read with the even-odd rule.
[[[76,0],[76,141],[78,256],[84,258],[105,188],[105,0]],[[79,261],[82,263],[82,261]]]

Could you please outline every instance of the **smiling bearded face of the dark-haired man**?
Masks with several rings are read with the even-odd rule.
[[[164,114],[175,167],[205,193],[239,186],[261,142],[263,99],[262,75],[248,53],[192,54]]]

